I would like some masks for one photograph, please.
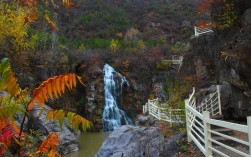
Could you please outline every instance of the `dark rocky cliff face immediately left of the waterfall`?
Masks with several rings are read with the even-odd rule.
[[[79,90],[83,99],[78,112],[93,122],[95,131],[100,131],[104,104],[102,66],[82,62],[78,65],[77,71],[81,77],[85,78],[85,86]]]

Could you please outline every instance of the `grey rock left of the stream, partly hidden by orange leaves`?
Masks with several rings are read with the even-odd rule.
[[[50,107],[44,105],[46,109]],[[44,137],[46,137],[50,132],[59,132],[60,135],[60,145],[58,151],[61,154],[68,154],[79,150],[79,144],[73,133],[73,130],[67,124],[66,119],[64,119],[63,127],[60,129],[59,123],[54,123],[52,121],[45,121],[46,111],[44,111],[41,116],[39,116],[41,108],[37,105],[33,108],[30,113],[30,118],[28,122],[28,128],[33,130],[40,130]]]

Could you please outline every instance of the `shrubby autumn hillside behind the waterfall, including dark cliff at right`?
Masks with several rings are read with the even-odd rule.
[[[225,87],[225,118],[244,118],[251,114],[250,2],[234,3],[233,26],[216,27],[213,34],[195,38],[194,25],[201,19],[217,21],[214,8],[223,4],[212,7],[211,17],[197,14],[197,5],[197,0],[79,1],[68,10],[56,11],[58,31],[43,25],[33,28],[44,33],[35,51],[1,52],[0,56],[12,59],[22,87],[35,88],[48,77],[68,72],[83,77],[86,86],[50,106],[62,104],[81,113],[94,122],[96,130],[102,127],[105,63],[129,81],[120,107],[132,118],[141,113],[148,98],[173,98],[182,104],[192,86],[212,84]],[[171,55],[184,56],[178,74],[177,66],[163,61]],[[181,90],[173,93],[172,89]]]

